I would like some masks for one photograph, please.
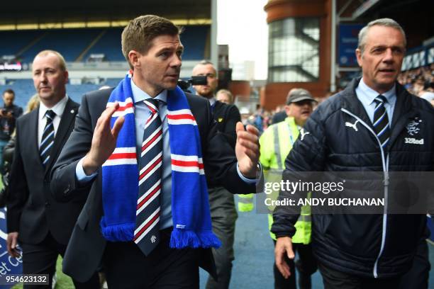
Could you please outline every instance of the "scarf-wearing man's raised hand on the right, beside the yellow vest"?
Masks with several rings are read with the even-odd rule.
[[[235,154],[240,172],[248,179],[255,179],[260,157],[259,130],[253,125],[247,125],[245,129],[240,122],[237,123],[235,130],[237,132]]]

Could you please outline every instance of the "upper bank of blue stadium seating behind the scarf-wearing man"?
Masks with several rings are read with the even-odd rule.
[[[77,28],[52,30],[13,30],[0,31],[1,55],[17,55],[27,47],[21,55],[22,62],[32,62],[33,57],[41,50],[57,50],[67,62],[77,57],[91,45],[101,32],[104,35],[87,51],[82,58],[85,62],[91,54],[104,54],[106,61],[125,61],[121,51],[121,33],[123,28]],[[184,26],[181,34],[185,47],[183,60],[202,60],[205,58],[206,40],[210,26]],[[28,47],[30,46],[30,47]]]

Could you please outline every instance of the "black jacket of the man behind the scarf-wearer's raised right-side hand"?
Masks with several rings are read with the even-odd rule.
[[[226,137],[231,147],[235,148],[237,134],[235,126],[241,121],[240,111],[233,104],[216,101],[213,109],[214,120],[217,122],[217,130]]]

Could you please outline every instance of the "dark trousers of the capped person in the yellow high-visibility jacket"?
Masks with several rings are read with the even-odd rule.
[[[276,245],[276,241],[274,241],[274,246]],[[286,254],[284,256],[284,260],[289,266],[289,271],[291,272],[291,276],[285,279],[280,273],[279,269],[274,263],[273,272],[274,272],[274,288],[275,289],[296,289],[296,270],[298,270],[298,280],[299,280],[299,288],[300,289],[310,289],[312,287],[311,283],[311,275],[315,273],[317,269],[315,256],[312,254],[312,246],[311,244],[298,244],[292,243],[292,249],[294,253],[299,254],[299,259],[294,262],[294,259],[289,259]]]

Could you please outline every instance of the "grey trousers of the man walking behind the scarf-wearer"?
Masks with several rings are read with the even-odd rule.
[[[213,233],[220,239],[221,247],[212,250],[218,280],[209,276],[206,289],[227,289],[229,288],[232,273],[232,262],[235,259],[233,242],[235,238],[235,221],[238,214],[235,209],[233,194],[228,192],[226,188],[208,188],[208,194]]]

